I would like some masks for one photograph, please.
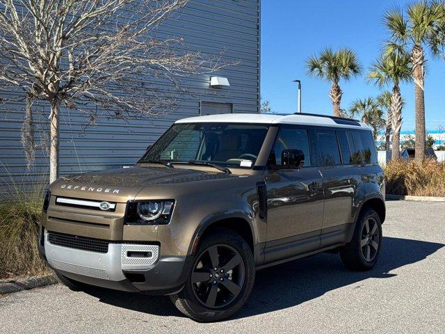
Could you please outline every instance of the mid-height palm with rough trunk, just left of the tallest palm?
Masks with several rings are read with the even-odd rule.
[[[400,159],[400,135],[402,127],[403,99],[399,84],[410,81],[412,66],[410,56],[403,49],[396,49],[389,53],[384,51],[382,56],[371,65],[368,78],[382,88],[392,86],[391,92],[391,120],[392,120],[392,159]]]

